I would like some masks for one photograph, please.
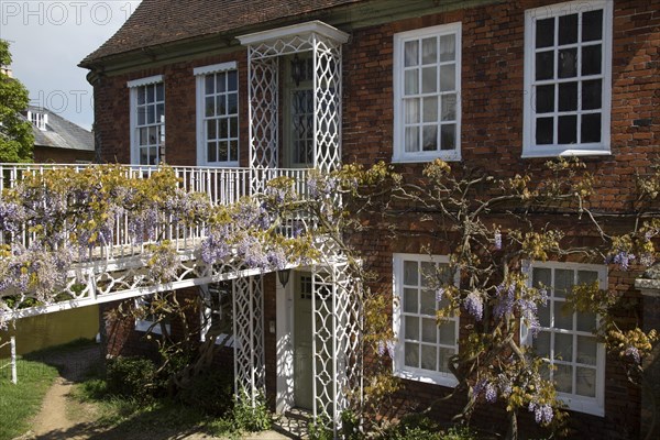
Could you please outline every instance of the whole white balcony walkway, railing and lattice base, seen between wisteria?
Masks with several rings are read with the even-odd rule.
[[[43,174],[54,169],[73,169],[81,173],[94,165],[63,165],[63,164],[0,164],[0,194],[4,189],[15,188],[23,178],[30,174]],[[229,206],[243,197],[253,196],[265,188],[265,184],[278,177],[289,177],[294,182],[298,194],[305,194],[308,169],[290,168],[213,168],[170,166],[176,175],[178,186],[186,193],[202,194],[212,205]],[[155,166],[120,166],[125,177],[145,179],[150,178],[158,167]],[[1,198],[0,198],[1,200]],[[0,310],[2,320],[41,315],[52,311],[101,304],[119,299],[127,299],[158,290],[172,290],[195,285],[207,284],[220,279],[230,279],[239,276],[251,276],[260,273],[258,270],[244,266],[233,267],[228,265],[206,265],[199,257],[200,243],[207,237],[205,224],[182,227],[172,217],[160,216],[155,226],[156,240],[145,240],[135,243],[129,233],[131,212],[125,212],[114,220],[111,242],[86,249],[76,253],[74,264],[67,273],[67,286],[64,289],[66,300],[42,304],[36,307],[19,308],[15,310]],[[290,228],[283,228],[283,233]],[[75,231],[67,231],[72,233]],[[63,242],[67,242],[65,237]],[[1,231],[0,244],[22,244],[28,246],[34,241],[34,233],[29,232],[24,224],[18,232]],[[147,282],[144,276],[144,256],[148,248],[158,241],[167,240],[179,257],[180,267],[177,278],[166,284]],[[0,292],[0,299],[18,293]]]

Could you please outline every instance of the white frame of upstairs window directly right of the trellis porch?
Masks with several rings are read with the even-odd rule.
[[[461,160],[461,52],[462,52],[462,38],[461,38],[461,22],[441,24],[438,26],[417,29],[414,31],[402,32],[394,35],[394,145],[393,145],[393,162],[398,163],[416,163],[416,162],[430,162],[436,158],[443,161],[460,161]],[[405,110],[404,110],[404,58],[405,58],[405,43],[410,40],[419,40],[429,36],[440,37],[442,35],[453,34],[455,36],[455,90],[453,94],[457,96],[455,102],[455,148],[454,150],[437,150],[429,152],[406,152],[405,151]],[[440,63],[440,62],[439,62]],[[448,62],[448,64],[450,64]],[[440,64],[438,64],[440,65]],[[421,81],[420,86],[421,87]],[[435,94],[427,94],[427,96],[441,97],[442,95],[450,95],[449,92],[436,91]],[[419,94],[420,96],[422,94]],[[422,118],[420,111],[419,118]],[[441,119],[440,110],[438,111],[438,118]],[[440,139],[440,127],[441,122],[438,122],[438,139]]]

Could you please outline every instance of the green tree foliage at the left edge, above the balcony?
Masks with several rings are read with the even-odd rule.
[[[0,66],[10,65],[9,43],[0,40]],[[32,124],[21,117],[29,102],[28,89],[0,70],[0,162],[32,162]]]

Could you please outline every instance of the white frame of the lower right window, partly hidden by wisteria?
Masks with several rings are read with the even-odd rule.
[[[561,263],[561,262],[540,262],[540,261],[532,261],[529,264],[527,264],[527,266],[529,267],[529,272],[526,273],[527,275],[527,280],[528,280],[528,285],[531,286],[532,284],[532,270],[535,267],[539,267],[539,268],[550,268],[552,270],[552,276],[554,279],[554,270],[570,270],[573,271],[573,273],[576,273],[578,271],[590,271],[590,272],[597,272],[598,274],[598,287],[601,289],[607,289],[608,285],[608,280],[607,280],[607,266],[606,265],[602,265],[602,264],[584,264],[584,263]],[[549,286],[550,287],[550,286]],[[551,292],[551,289],[548,289],[548,306],[546,307],[550,307],[550,301],[552,301],[553,298],[553,294]],[[563,302],[562,300],[556,301],[556,302]],[[542,306],[540,306],[542,307]],[[552,309],[551,309],[552,310]],[[550,315],[550,319],[552,318],[552,314]],[[575,315],[573,314],[573,319],[575,319]],[[598,317],[596,317],[596,319],[598,319]],[[553,333],[558,333],[560,331],[557,330],[552,330]],[[579,331],[579,330],[562,330],[561,333],[564,334],[584,334],[584,336],[590,336],[593,337],[594,334],[591,332],[583,332],[583,331]],[[531,331],[529,331],[529,329],[526,326],[521,326],[521,330],[520,330],[520,340],[521,343],[524,343],[525,345],[531,346],[532,342],[534,342],[534,336],[531,334]],[[550,348],[551,350],[553,349],[552,346]],[[573,344],[573,362],[571,362],[572,365],[578,364],[576,360],[576,344]],[[560,400],[562,400],[564,404],[566,404],[566,406],[569,407],[569,409],[574,410],[574,411],[580,411],[580,413],[585,413],[585,414],[591,414],[594,416],[600,416],[603,417],[605,415],[605,344],[597,342],[596,345],[596,380],[595,380],[595,386],[596,386],[596,395],[595,397],[585,397],[585,396],[580,396],[576,394],[569,394],[569,393],[560,393],[558,392],[557,395],[559,397]]]

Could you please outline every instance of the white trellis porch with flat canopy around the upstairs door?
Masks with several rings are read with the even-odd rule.
[[[239,36],[248,46],[250,89],[250,166],[278,165],[279,78],[277,59],[311,52],[314,59],[314,167],[341,165],[341,45],[348,34],[321,22]],[[261,185],[253,178],[253,188]]]

